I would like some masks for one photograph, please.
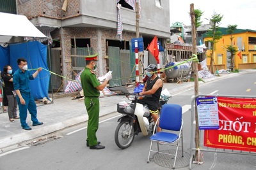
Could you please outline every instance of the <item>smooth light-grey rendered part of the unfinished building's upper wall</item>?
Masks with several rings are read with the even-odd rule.
[[[155,1],[141,1],[140,33],[157,35],[159,38],[170,38],[169,1],[162,0],[162,9],[156,8]],[[97,25],[116,29],[116,1],[81,0],[81,15],[84,24]],[[135,32],[135,11],[121,7],[124,31]],[[97,22],[95,22],[97,20]],[[65,22],[71,25],[73,20]],[[76,22],[77,23],[77,22]],[[79,22],[78,22],[79,23]]]

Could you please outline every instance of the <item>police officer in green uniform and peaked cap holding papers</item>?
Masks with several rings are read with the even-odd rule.
[[[86,56],[86,67],[83,73],[81,73],[81,83],[84,91],[84,104],[88,113],[88,128],[86,146],[90,146],[90,149],[100,150],[105,146],[99,145],[96,132],[99,127],[99,96],[100,91],[104,90],[109,80],[112,78],[111,73],[105,75],[106,79],[102,84],[97,80],[95,73],[93,72],[97,68],[97,53],[95,55]]]

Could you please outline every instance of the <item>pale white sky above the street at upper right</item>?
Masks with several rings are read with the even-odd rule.
[[[202,24],[209,24],[214,11],[223,15],[220,27],[237,25],[237,29],[252,29],[256,31],[256,1],[255,0],[179,0],[170,1],[170,24],[182,22],[191,25],[189,16],[190,4],[194,9],[203,11]]]

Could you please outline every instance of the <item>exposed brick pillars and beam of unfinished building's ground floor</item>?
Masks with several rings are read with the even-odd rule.
[[[61,56],[63,62],[63,75],[72,78],[72,63],[71,61],[71,39],[74,38],[89,38],[90,47],[93,48],[94,53],[99,53],[99,66],[96,71],[97,76],[106,74],[107,60],[106,56],[106,39],[118,40],[116,38],[116,31],[104,28],[86,28],[86,27],[64,27],[56,29],[52,32],[52,38],[60,39],[61,42]],[[125,32],[123,39],[130,40],[136,36],[132,32]]]

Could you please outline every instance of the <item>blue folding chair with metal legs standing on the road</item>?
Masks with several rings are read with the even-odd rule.
[[[161,132],[156,132],[157,122],[159,122],[159,127],[161,127]],[[170,153],[163,153],[167,155],[175,156],[173,169],[175,169],[175,163],[177,159],[177,153],[180,147],[181,139],[181,148],[182,148],[182,157],[183,157],[183,138],[182,138],[182,107],[178,104],[164,104],[161,115],[157,119],[156,125],[154,127],[154,133],[150,137],[151,144],[148,153],[148,161],[150,159],[150,153],[163,153],[159,152],[159,143],[163,145],[172,145],[176,147],[175,155]],[[156,133],[155,133],[156,132]],[[157,150],[152,150],[152,143],[157,143]]]

